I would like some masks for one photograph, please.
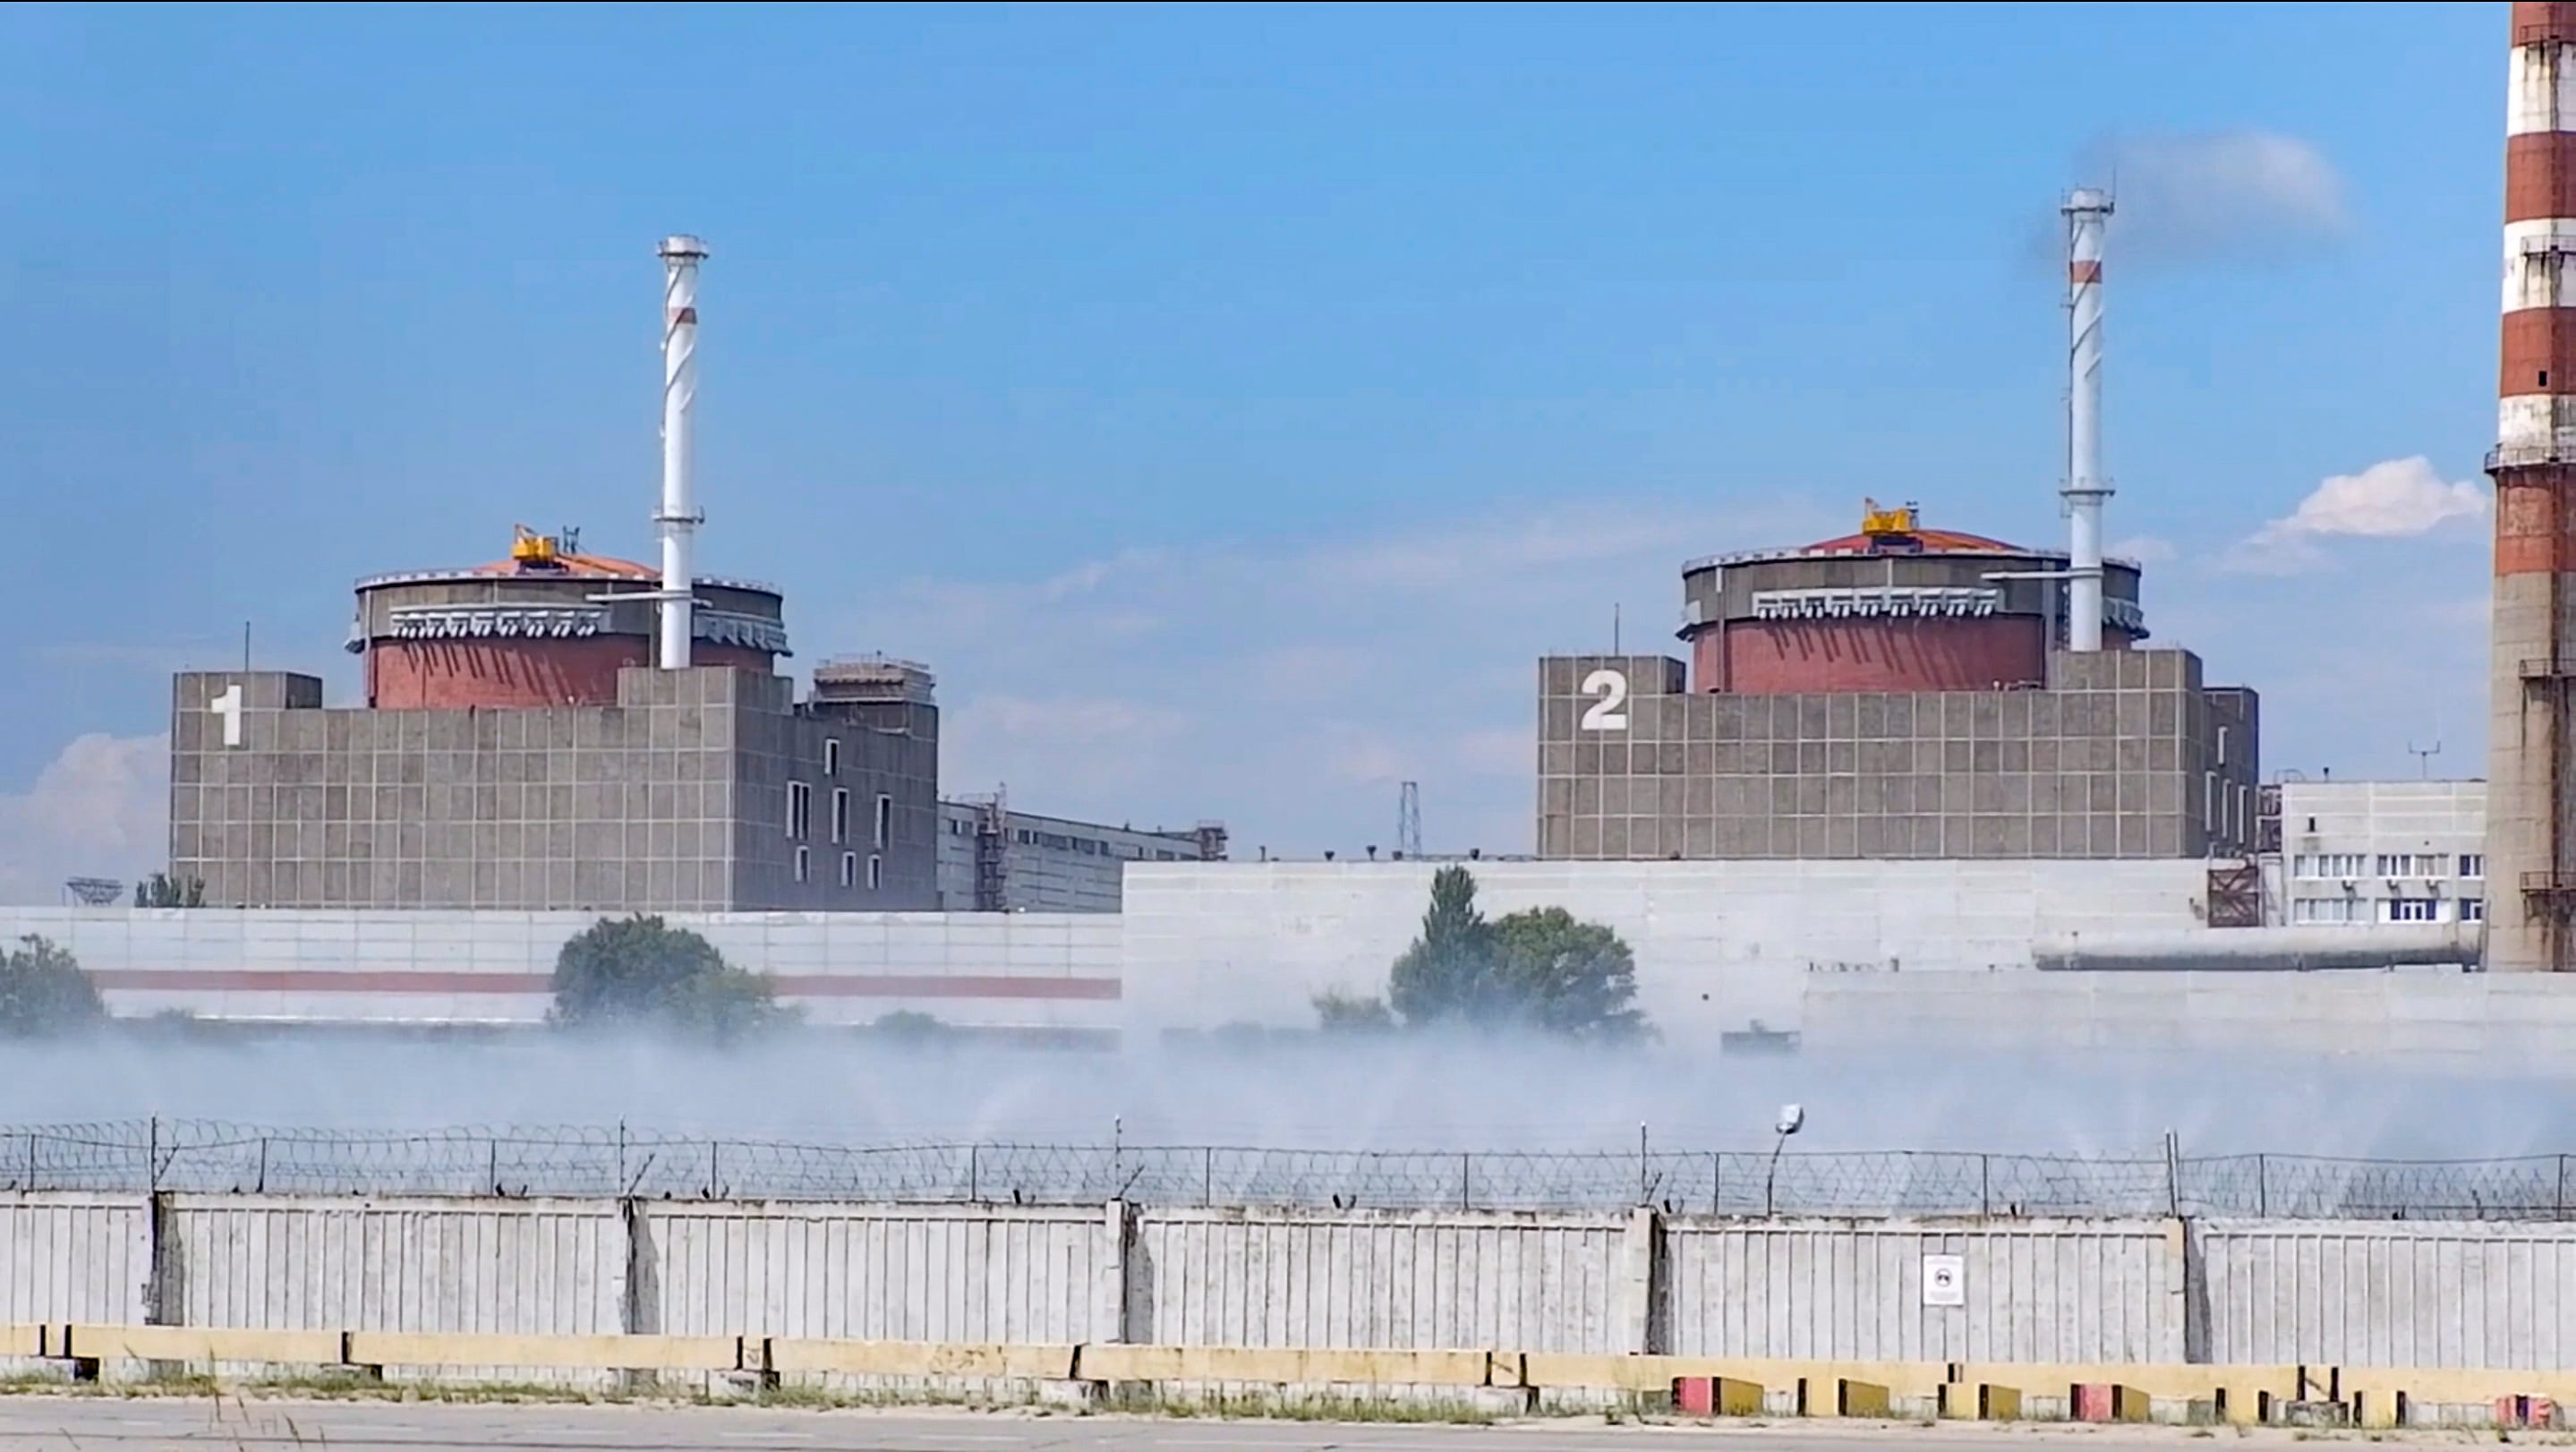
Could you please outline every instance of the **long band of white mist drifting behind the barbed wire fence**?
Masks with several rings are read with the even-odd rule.
[[[1953,1148],[2476,1159],[2576,1151],[2548,1074],[2336,1056],[1996,1056],[1548,1043],[1267,1043],[1131,1053],[786,1035],[750,1050],[533,1035],[389,1043],[118,1035],[15,1045],[0,1122],[144,1115],[317,1128],[613,1125],[809,1143],[1280,1148]],[[2463,1061],[2465,1063],[2465,1061]]]

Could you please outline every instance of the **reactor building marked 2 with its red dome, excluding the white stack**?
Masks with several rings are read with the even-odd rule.
[[[2138,649],[2066,646],[2069,556],[1870,510],[1857,535],[1685,569],[1692,667],[1538,667],[1538,855],[2233,857],[2254,847],[2257,698]]]

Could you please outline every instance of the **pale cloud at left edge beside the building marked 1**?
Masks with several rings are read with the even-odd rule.
[[[167,865],[170,739],[77,736],[0,796],[0,901],[62,901],[64,878],[134,880]]]

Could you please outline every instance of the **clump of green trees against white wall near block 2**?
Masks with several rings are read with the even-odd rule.
[[[1324,994],[1327,1030],[1520,1027],[1582,1040],[1646,1032],[1636,1009],[1636,955],[1615,932],[1566,909],[1486,919],[1466,868],[1432,875],[1422,937],[1386,976],[1386,1001]]]

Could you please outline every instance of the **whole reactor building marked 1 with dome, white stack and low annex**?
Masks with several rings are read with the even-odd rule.
[[[662,564],[515,533],[471,569],[358,582],[363,703],[322,680],[183,672],[170,873],[209,906],[500,911],[1115,911],[1128,860],[1224,829],[943,808],[927,667],[778,675],[786,600],[690,569],[696,278],[662,245]]]

